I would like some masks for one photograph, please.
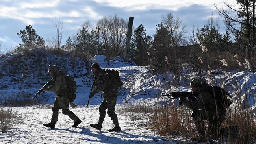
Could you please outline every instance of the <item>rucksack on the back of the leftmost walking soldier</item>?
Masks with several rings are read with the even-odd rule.
[[[77,85],[76,85],[76,81],[75,79],[70,75],[65,75],[65,79],[67,80],[67,86],[69,88],[69,92],[70,92],[70,102],[73,102],[75,99],[76,99],[76,88],[77,88]]]

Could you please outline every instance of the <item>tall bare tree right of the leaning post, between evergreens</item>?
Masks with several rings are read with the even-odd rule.
[[[167,13],[162,16],[162,23],[167,26],[171,36],[171,46],[181,46],[185,42],[186,26],[182,23],[180,18],[174,17],[172,13]]]

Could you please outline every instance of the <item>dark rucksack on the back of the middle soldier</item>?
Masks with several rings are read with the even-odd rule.
[[[120,89],[124,85],[124,83],[121,81],[121,78],[119,76],[119,72],[117,70],[106,69],[105,72],[110,77],[112,88]]]

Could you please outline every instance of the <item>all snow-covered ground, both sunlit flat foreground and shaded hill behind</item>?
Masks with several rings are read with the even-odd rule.
[[[32,56],[27,56],[32,55]],[[71,63],[75,62],[75,65]],[[8,102],[10,98],[18,100],[29,100],[39,90],[46,81],[50,79],[47,73],[49,64],[58,65],[68,74],[75,77],[78,90],[76,92],[75,104],[78,105],[72,111],[82,120],[77,128],[72,128],[73,121],[60,110],[59,120],[56,129],[48,129],[43,123],[50,122],[52,111],[50,105],[39,107],[38,105],[29,107],[14,107],[12,110],[21,114],[22,122],[9,128],[10,133],[0,133],[0,144],[6,143],[184,143],[180,138],[165,140],[154,131],[147,129],[142,123],[146,119],[130,120],[125,113],[117,111],[120,126],[120,133],[109,133],[108,129],[113,127],[111,119],[106,115],[102,131],[97,131],[89,126],[90,123],[98,121],[98,107],[102,102],[100,93],[91,100],[89,108],[86,108],[91,83],[93,77],[90,72],[92,63],[99,63],[102,68],[118,70],[125,87],[119,90],[117,98],[117,109],[123,107],[125,103],[152,103],[161,101],[159,97],[162,92],[187,92],[189,82],[193,78],[200,78],[193,69],[184,65],[184,70],[180,76],[180,83],[174,86],[173,75],[150,73],[148,67],[137,66],[132,61],[126,62],[121,57],[114,60],[106,60],[106,56],[96,55],[88,59],[87,62],[70,57],[59,57],[49,53],[47,50],[36,48],[27,53],[17,53],[13,55],[3,55],[0,57],[0,103]],[[23,67],[22,67],[23,66]],[[203,72],[204,79],[211,85],[219,85],[230,94],[234,100],[243,98],[250,109],[256,110],[256,72],[212,70]],[[208,79],[211,77],[211,79]],[[43,104],[52,104],[55,94],[45,92],[36,98]]]

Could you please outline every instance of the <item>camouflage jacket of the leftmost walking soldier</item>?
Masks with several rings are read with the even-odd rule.
[[[53,77],[52,81],[50,82],[50,87],[45,87],[44,90],[51,91],[57,94],[60,97],[69,97],[68,96],[68,86],[66,78],[64,77],[65,73],[60,70],[56,73],[56,76]]]

